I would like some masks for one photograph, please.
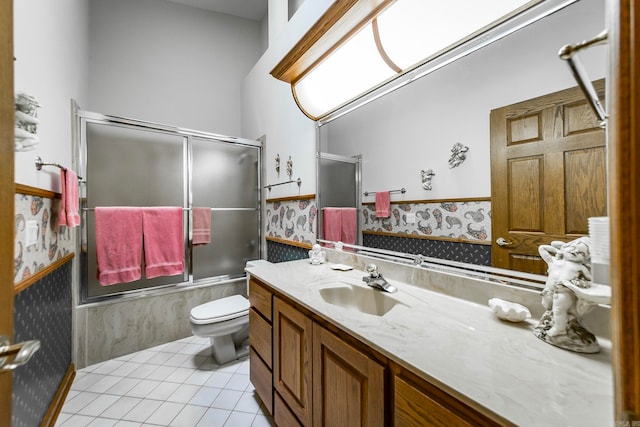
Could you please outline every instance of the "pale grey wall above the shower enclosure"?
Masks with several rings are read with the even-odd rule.
[[[159,0],[90,0],[90,22],[84,109],[242,136],[261,23]]]

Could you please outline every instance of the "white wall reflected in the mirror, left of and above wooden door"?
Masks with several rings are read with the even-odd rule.
[[[323,126],[327,151],[362,154],[366,191],[405,187],[405,200],[490,197],[490,111],[576,86],[557,53],[604,28],[604,1],[580,1]],[[580,58],[592,79],[606,75],[605,46]],[[449,169],[456,142],[469,147],[467,160]],[[436,174],[431,191],[421,187],[428,168]]]

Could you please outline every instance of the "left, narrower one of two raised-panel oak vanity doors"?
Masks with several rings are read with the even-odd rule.
[[[311,425],[312,320],[275,297],[273,302],[274,386],[302,425]]]

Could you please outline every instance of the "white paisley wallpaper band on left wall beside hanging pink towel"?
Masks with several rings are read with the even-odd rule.
[[[55,225],[52,214],[59,199],[26,194],[15,195],[14,284],[74,251],[74,233],[69,227]],[[37,226],[36,241],[27,245],[27,228]]]

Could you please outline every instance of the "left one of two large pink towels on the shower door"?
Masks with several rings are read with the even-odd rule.
[[[142,276],[142,209],[96,207],[96,258],[102,286]]]

